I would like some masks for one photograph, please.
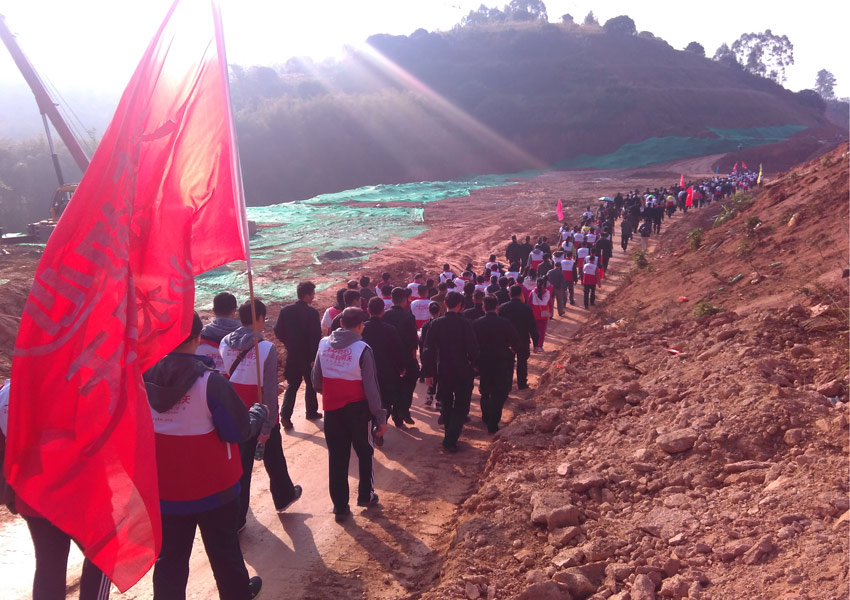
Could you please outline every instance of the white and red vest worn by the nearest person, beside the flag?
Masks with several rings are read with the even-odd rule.
[[[171,502],[200,500],[236,485],[242,461],[236,444],[222,442],[207,404],[204,373],[164,413],[151,409],[156,443],[159,497]]]

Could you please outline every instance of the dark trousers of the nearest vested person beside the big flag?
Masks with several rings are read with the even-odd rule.
[[[162,551],[153,568],[154,600],[185,600],[196,528],[201,530],[221,600],[250,598],[236,533],[238,519],[238,500],[192,515],[162,515]]]

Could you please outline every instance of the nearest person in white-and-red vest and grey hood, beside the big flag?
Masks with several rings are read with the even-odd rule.
[[[263,582],[248,577],[237,533],[242,462],[236,444],[255,438],[269,411],[262,404],[246,407],[212,361],[195,354],[201,327],[195,313],[189,337],[144,373],[162,512],[153,597],[186,597],[200,528],[219,596],[255,598]]]

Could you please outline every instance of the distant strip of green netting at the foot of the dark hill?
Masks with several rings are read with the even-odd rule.
[[[781,125],[776,127],[756,127],[753,129],[714,129],[708,128],[717,137],[662,137],[649,138],[636,144],[625,144],[616,152],[603,156],[583,154],[559,162],[558,169],[630,169],[660,163],[732,152],[740,145],[743,148],[775,144],[806,129],[802,125]]]

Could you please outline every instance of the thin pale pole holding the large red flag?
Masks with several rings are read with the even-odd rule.
[[[240,228],[242,230],[242,243],[245,247],[245,262],[248,268],[248,296],[251,302],[251,323],[255,328],[254,333],[254,361],[257,366],[257,402],[263,403],[263,378],[260,372],[260,340],[256,334],[257,307],[254,301],[254,271],[251,266],[251,247],[248,243],[248,215],[245,209],[245,189],[242,185],[242,165],[239,160],[239,144],[236,140],[236,126],[233,119],[233,103],[230,97],[230,77],[227,71],[227,51],[224,47],[224,30],[221,24],[221,7],[218,0],[210,0],[213,10],[213,21],[215,22],[215,41],[219,54],[219,69],[224,83],[225,100],[227,102],[227,126],[230,131],[230,166],[233,177],[233,197],[236,201],[236,214],[240,216]],[[269,415],[271,417],[271,415]]]

